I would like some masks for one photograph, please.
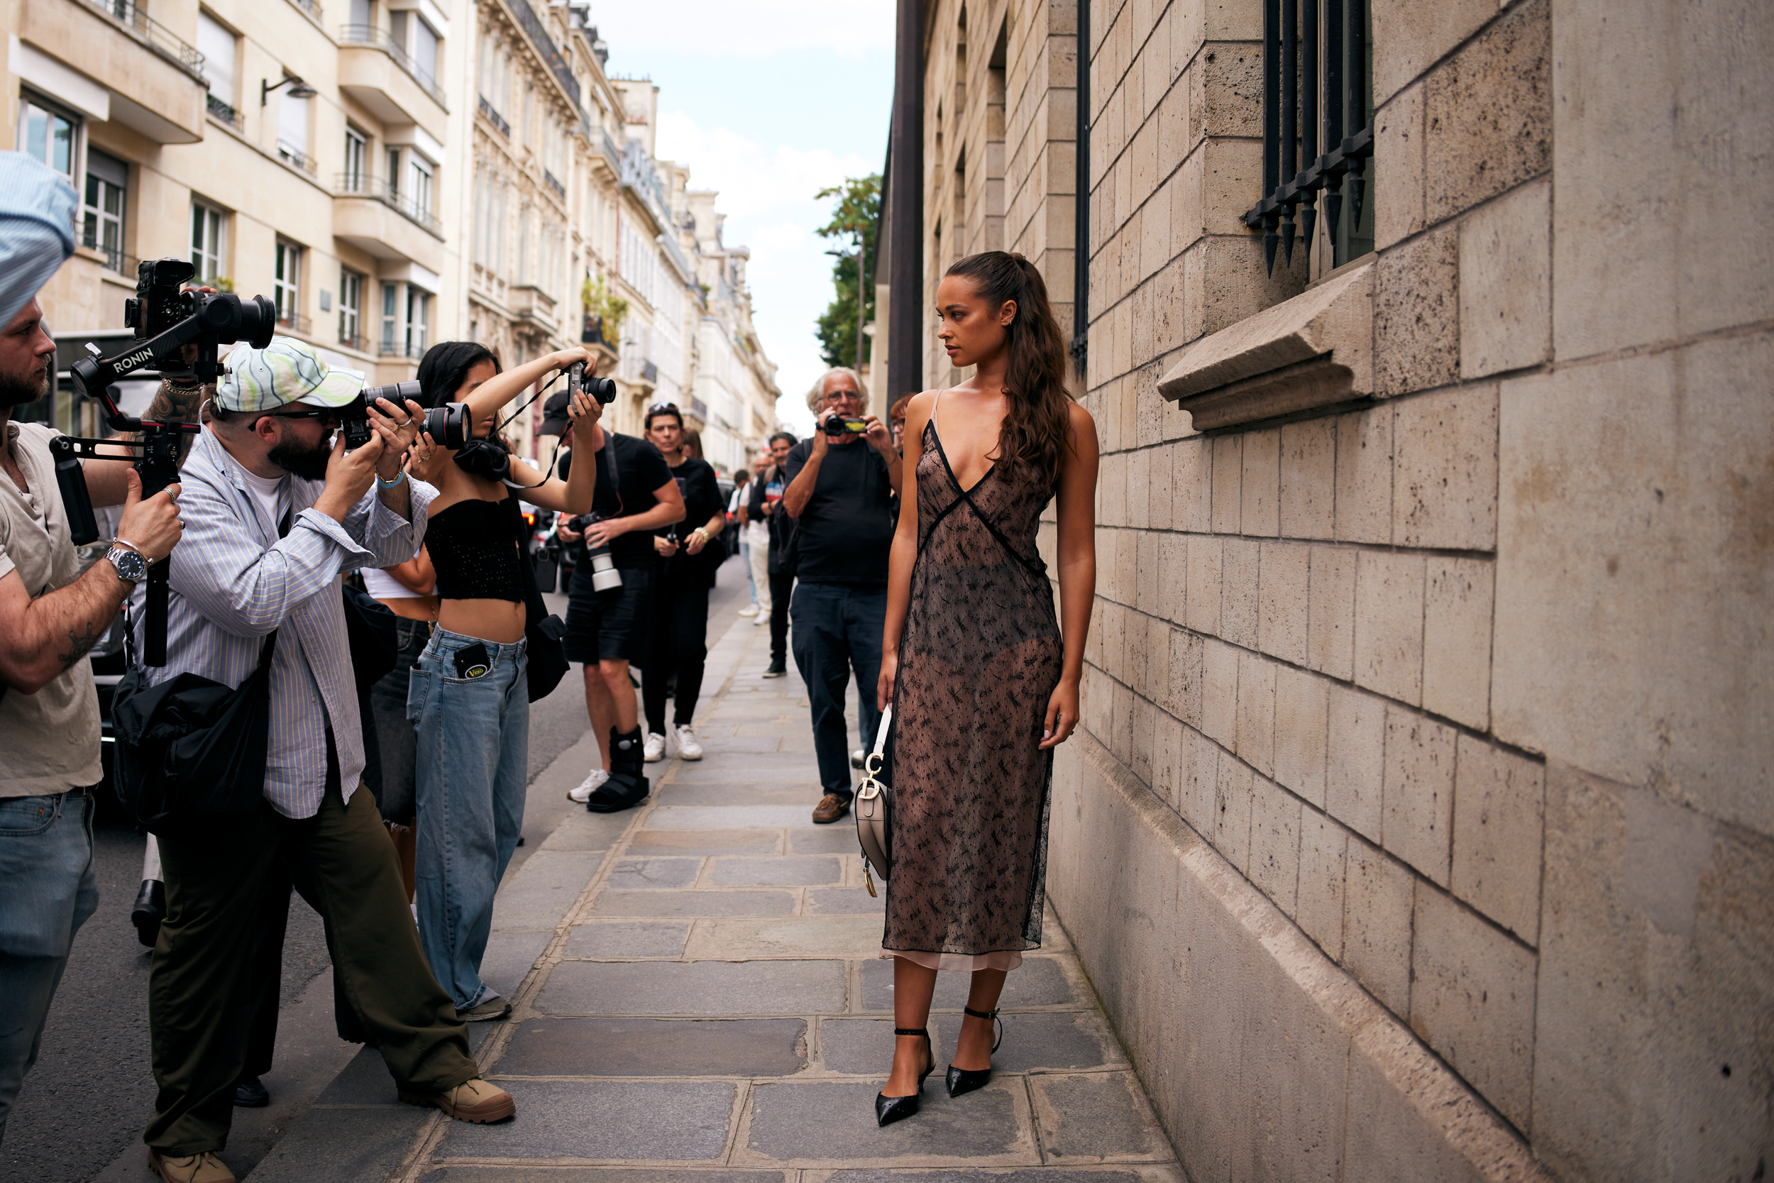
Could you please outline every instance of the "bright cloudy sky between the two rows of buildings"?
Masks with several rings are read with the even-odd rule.
[[[656,145],[720,190],[729,247],[750,247],[752,312],[777,364],[779,417],[812,426],[832,300],[821,188],[880,172],[892,108],[892,0],[594,0],[610,74],[660,87]]]

